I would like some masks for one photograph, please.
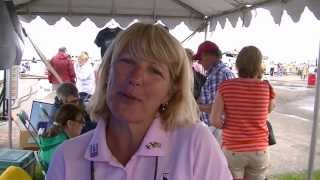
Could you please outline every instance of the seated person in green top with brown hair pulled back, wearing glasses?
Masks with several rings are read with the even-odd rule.
[[[56,148],[65,140],[79,136],[85,124],[82,110],[74,104],[64,104],[56,113],[54,125],[39,137],[40,161],[47,171]]]

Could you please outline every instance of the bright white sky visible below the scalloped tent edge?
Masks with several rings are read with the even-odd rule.
[[[315,62],[319,55],[320,21],[307,8],[298,23],[294,23],[285,12],[280,26],[274,24],[267,10],[258,9],[253,14],[250,27],[242,27],[239,20],[236,28],[233,28],[227,21],[224,29],[218,24],[214,32],[209,32],[208,40],[217,43],[223,51],[240,50],[243,46],[255,45],[275,62]],[[88,19],[79,27],[73,27],[65,19],[50,26],[39,17],[31,23],[22,24],[47,58],[51,58],[60,46],[66,46],[71,55],[78,55],[85,50],[93,59],[100,57],[100,51],[94,44],[100,29]],[[107,23],[107,26],[110,25],[116,24]],[[180,41],[192,33],[184,24],[170,32]],[[204,33],[197,33],[183,46],[196,51],[203,40]],[[24,58],[33,56],[37,57],[27,42]]]

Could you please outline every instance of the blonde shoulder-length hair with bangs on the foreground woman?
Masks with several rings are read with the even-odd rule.
[[[166,130],[190,125],[199,119],[198,106],[191,90],[192,70],[184,48],[160,25],[142,23],[133,24],[121,32],[103,57],[98,72],[99,81],[91,101],[91,116],[94,119],[110,119],[106,102],[107,82],[112,62],[124,51],[133,58],[154,60],[168,66],[171,99],[166,111],[159,111]]]

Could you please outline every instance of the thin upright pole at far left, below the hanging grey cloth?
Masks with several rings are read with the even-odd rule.
[[[6,102],[7,102],[7,120],[8,120],[8,140],[9,148],[12,148],[12,119],[11,119],[11,73],[10,69],[6,69]]]

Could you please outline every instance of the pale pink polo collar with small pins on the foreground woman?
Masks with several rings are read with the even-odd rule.
[[[160,118],[154,119],[134,156],[166,155],[168,135],[169,132],[164,130]],[[114,161],[106,143],[106,123],[104,120],[98,121],[84,157],[89,161]]]

